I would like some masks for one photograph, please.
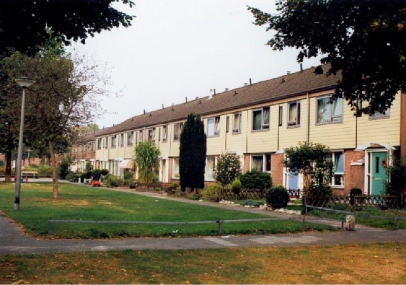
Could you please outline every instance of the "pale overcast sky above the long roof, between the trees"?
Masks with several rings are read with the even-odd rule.
[[[276,13],[275,0],[133,0],[120,10],[136,16],[129,28],[102,31],[74,44],[111,69],[109,87],[122,90],[106,98],[99,127],[132,116],[210,95],[225,88],[268,80],[300,69],[297,50],[273,51],[265,26],[255,26],[247,6]],[[306,60],[303,68],[319,63]]]

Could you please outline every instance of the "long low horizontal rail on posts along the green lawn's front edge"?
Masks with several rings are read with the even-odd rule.
[[[54,220],[48,219],[48,236],[52,235],[52,225],[56,223],[65,224],[144,224],[144,225],[197,225],[197,224],[218,224],[218,232],[221,234],[223,223],[241,223],[241,222],[262,222],[275,221],[275,218],[263,219],[240,219],[240,220],[215,220],[215,221],[190,221],[190,222],[153,222],[153,221],[84,221],[84,220]]]

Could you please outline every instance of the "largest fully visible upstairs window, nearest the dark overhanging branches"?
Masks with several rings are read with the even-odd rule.
[[[343,122],[343,97],[330,102],[332,95],[317,98],[317,123]]]

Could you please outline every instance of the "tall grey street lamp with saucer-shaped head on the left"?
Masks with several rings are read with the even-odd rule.
[[[21,103],[21,120],[20,120],[20,135],[18,137],[18,154],[16,163],[16,190],[14,198],[14,209],[20,209],[20,190],[21,190],[21,159],[22,159],[22,135],[24,129],[24,108],[25,108],[25,89],[35,83],[34,80],[28,77],[20,77],[14,80],[22,88],[22,103]]]

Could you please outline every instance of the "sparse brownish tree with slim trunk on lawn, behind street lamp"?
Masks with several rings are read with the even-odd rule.
[[[10,126],[2,132],[15,147],[19,128],[21,88],[14,79],[32,76],[26,98],[24,144],[41,153],[49,151],[53,173],[53,197],[58,198],[55,152],[75,142],[80,126],[89,124],[97,114],[100,96],[106,93],[108,78],[98,75],[84,57],[60,56],[53,49],[34,57],[19,52],[0,61],[7,108],[0,110],[0,124]],[[48,149],[48,150],[46,150]],[[9,151],[9,150],[7,150]]]

